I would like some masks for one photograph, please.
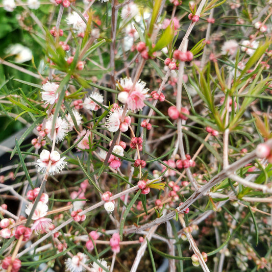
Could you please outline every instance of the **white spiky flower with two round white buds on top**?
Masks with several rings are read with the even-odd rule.
[[[47,159],[46,156],[43,156],[42,153],[43,153],[43,151],[40,154],[40,159],[37,160],[35,165],[38,168],[39,172],[45,173],[46,169],[49,165],[50,159]],[[65,157],[60,158],[59,153],[58,154],[57,153],[58,153],[57,151],[53,151],[50,154],[51,160],[53,159],[53,161],[49,167],[49,170],[48,170],[50,175],[54,175],[55,172],[59,173],[64,168],[64,166],[67,164],[67,162],[64,161]]]

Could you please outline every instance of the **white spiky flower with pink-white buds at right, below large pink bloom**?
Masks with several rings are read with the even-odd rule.
[[[131,118],[129,116],[125,117],[125,120],[121,122],[121,117],[123,114],[123,108],[122,107],[116,107],[110,111],[109,116],[106,119],[105,127],[110,132],[116,132],[118,129],[120,129],[122,132],[125,132],[128,130],[128,125],[131,123]],[[126,126],[123,126],[126,125]]]

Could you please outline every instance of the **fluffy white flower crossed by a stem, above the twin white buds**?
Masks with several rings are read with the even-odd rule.
[[[52,133],[51,133],[53,129],[52,125],[53,125],[53,115],[50,115],[47,122],[45,123],[45,128],[48,130],[47,136],[51,140],[53,140]],[[69,124],[64,119],[61,119],[61,117],[57,117],[56,123],[55,123],[55,130],[56,130],[56,143],[58,143],[59,141],[62,141],[64,137],[67,135],[69,131]]]

